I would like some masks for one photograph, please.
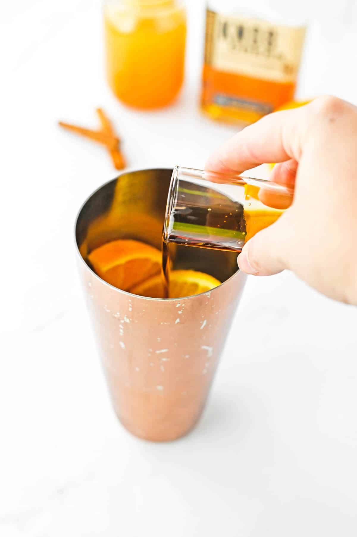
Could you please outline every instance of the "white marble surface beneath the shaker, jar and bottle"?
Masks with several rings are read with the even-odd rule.
[[[251,278],[190,436],[137,440],[108,400],[72,228],[85,197],[115,174],[103,149],[63,133],[56,120],[95,125],[101,105],[133,168],[202,166],[233,130],[196,107],[202,2],[190,3],[185,89],[176,105],[155,113],[126,110],[108,91],[100,3],[7,4],[0,535],[356,535],[355,308],[289,273]],[[355,14],[347,2],[313,26],[301,96],[329,92],[356,102]]]

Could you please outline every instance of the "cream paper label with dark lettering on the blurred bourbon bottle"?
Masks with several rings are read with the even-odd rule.
[[[205,62],[218,71],[276,82],[294,82],[304,27],[231,17],[207,10]]]

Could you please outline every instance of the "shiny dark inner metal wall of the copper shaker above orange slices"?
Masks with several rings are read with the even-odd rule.
[[[98,246],[118,238],[162,244],[171,169],[123,173],[101,186],[85,202],[76,222],[76,242],[85,262]],[[170,244],[174,269],[207,272],[220,281],[238,270],[237,254]]]

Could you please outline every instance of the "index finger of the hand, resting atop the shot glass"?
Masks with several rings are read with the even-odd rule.
[[[312,104],[312,103],[311,103]],[[266,115],[245,127],[208,158],[205,169],[242,173],[266,162],[299,160],[311,104]]]

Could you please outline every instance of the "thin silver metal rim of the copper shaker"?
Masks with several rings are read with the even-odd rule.
[[[178,168],[178,166],[176,166],[174,169]],[[200,294],[197,294],[197,295],[190,295],[190,296],[183,296],[183,297],[180,297],[180,298],[176,298],[176,299],[157,299],[157,298],[154,298],[154,297],[151,297],[151,296],[141,296],[141,295],[134,295],[133,293],[129,293],[128,291],[123,291],[122,289],[119,289],[118,287],[114,287],[113,285],[111,284],[108,284],[108,282],[106,282],[105,280],[103,280],[102,278],[100,278],[98,276],[98,274],[96,274],[88,264],[86,264],[85,260],[83,259],[83,257],[81,256],[81,253],[79,252],[79,248],[78,248],[78,244],[77,244],[77,239],[76,239],[76,229],[77,229],[77,223],[78,223],[78,218],[79,218],[79,215],[81,214],[82,212],[82,209],[84,208],[84,206],[86,205],[86,203],[91,199],[91,197],[96,194],[96,192],[98,192],[101,188],[103,188],[105,185],[111,183],[112,181],[114,180],[118,180],[120,179],[120,177],[122,175],[126,175],[127,173],[134,173],[134,172],[139,172],[139,171],[150,171],[150,172],[155,172],[155,171],[173,171],[172,168],[139,168],[139,169],[129,169],[129,170],[126,170],[126,171],[123,171],[122,173],[120,173],[118,176],[114,177],[113,179],[110,179],[108,181],[106,181],[105,183],[103,183],[102,185],[100,185],[98,188],[96,188],[96,190],[94,190],[83,202],[83,204],[81,205],[81,207],[79,208],[79,211],[76,215],[76,218],[75,218],[75,225],[74,225],[74,241],[75,241],[75,248],[76,248],[76,252],[77,252],[77,255],[79,256],[79,258],[81,259],[81,262],[86,266],[86,268],[94,275],[94,277],[96,277],[99,281],[101,282],[104,282],[104,284],[112,289],[115,290],[115,292],[118,292],[118,293],[121,293],[121,294],[125,294],[125,295],[128,295],[128,296],[137,296],[143,300],[155,300],[157,302],[162,302],[162,301],[165,301],[165,302],[177,302],[177,301],[180,301],[180,300],[185,300],[185,299],[191,299],[192,297],[196,297],[196,296],[202,296],[202,295],[206,295],[212,291],[205,291],[204,293],[200,293]],[[241,271],[239,270],[239,268],[237,269],[237,271],[232,274],[227,280],[224,280],[222,282],[222,284],[218,285],[217,287],[222,287],[223,285],[225,284],[228,284],[228,282],[232,279],[232,278],[235,278],[237,277],[237,274],[239,274]]]

